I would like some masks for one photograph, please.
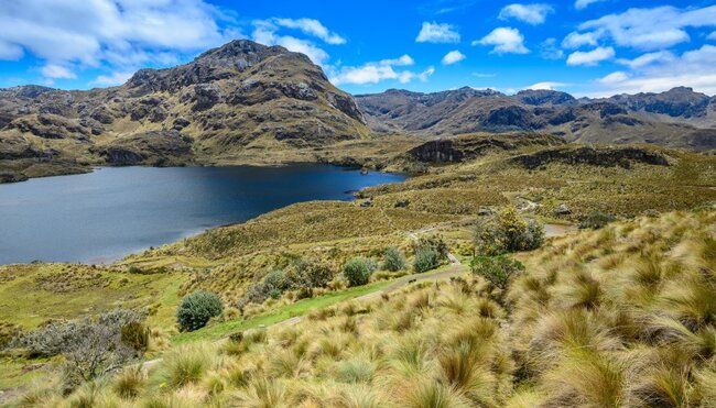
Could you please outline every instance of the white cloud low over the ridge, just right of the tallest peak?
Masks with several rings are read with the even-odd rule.
[[[334,85],[352,84],[366,85],[378,84],[383,80],[398,80],[401,84],[410,82],[417,79],[421,81],[435,73],[435,68],[428,67],[427,69],[415,73],[412,70],[397,70],[395,67],[413,65],[414,60],[410,55],[403,55],[399,58],[382,59],[377,63],[368,63],[358,67],[341,67],[334,69],[329,67],[330,81]]]

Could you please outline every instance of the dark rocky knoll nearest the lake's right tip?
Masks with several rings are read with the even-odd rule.
[[[513,151],[524,146],[560,146],[562,137],[538,133],[471,134],[425,142],[408,152],[411,158],[427,163],[456,163],[491,151]]]

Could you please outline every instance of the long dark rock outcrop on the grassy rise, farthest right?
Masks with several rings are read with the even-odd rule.
[[[669,161],[663,154],[639,147],[565,146],[514,156],[511,161],[530,169],[549,163],[586,164],[600,167],[621,166],[625,168],[629,168],[632,162],[654,166],[669,165]]]

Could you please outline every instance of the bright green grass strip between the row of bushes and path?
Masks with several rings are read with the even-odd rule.
[[[344,300],[354,299],[377,290],[380,290],[395,280],[383,280],[373,284],[359,286],[346,290],[334,291],[324,296],[302,299],[294,304],[286,305],[265,315],[252,317],[246,320],[231,320],[218,324],[209,326],[193,332],[180,333],[172,338],[172,344],[186,344],[200,341],[216,341],[226,338],[230,333],[239,330],[253,329],[260,326],[271,326],[286,319],[306,315],[311,310],[333,306]]]

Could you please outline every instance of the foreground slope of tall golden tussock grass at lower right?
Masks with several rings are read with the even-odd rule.
[[[520,254],[507,294],[480,278],[417,284],[46,401],[119,403],[132,387],[135,405],[709,407],[715,235],[716,209],[576,232]]]

